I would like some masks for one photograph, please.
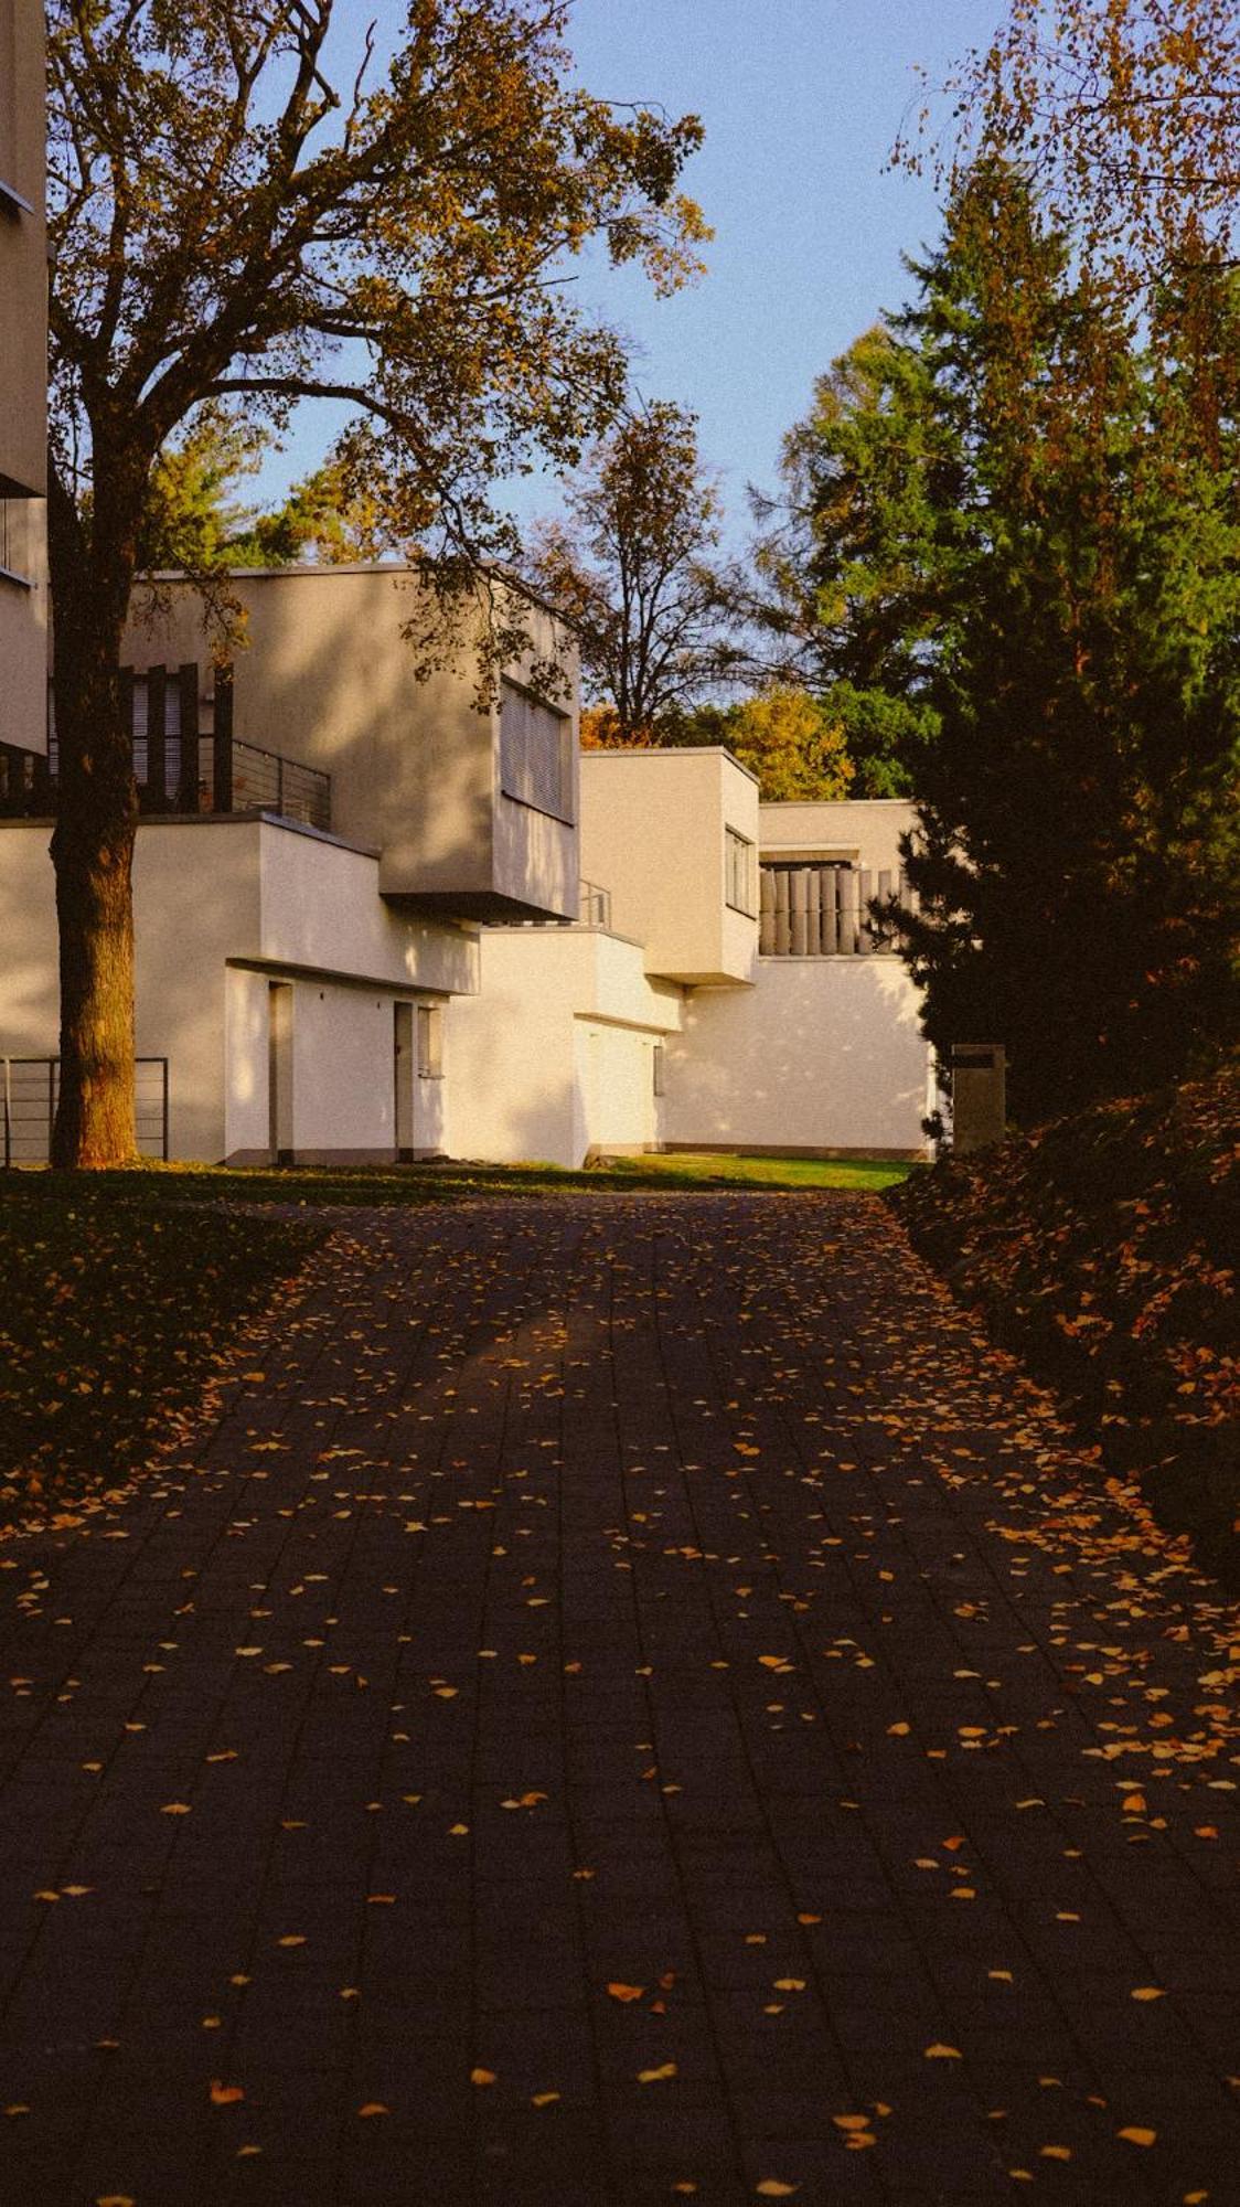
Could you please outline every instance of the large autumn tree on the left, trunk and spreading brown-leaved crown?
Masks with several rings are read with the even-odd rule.
[[[333,15],[49,7],[60,1165],[135,1148],[119,644],[168,441],[203,406],[278,430],[344,399],[349,483],[443,554],[448,589],[516,547],[488,486],[536,452],[574,463],[622,399],[565,258],[598,236],[662,291],[697,265],[677,174],[699,126],[576,90],[567,0],[410,0],[384,73]],[[512,642],[499,616],[496,655]]]

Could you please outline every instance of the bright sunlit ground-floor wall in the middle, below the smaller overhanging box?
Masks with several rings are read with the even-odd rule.
[[[580,1165],[591,1148],[658,1141],[653,1044],[680,1006],[635,942],[485,929],[481,991],[448,1015],[452,1154]]]

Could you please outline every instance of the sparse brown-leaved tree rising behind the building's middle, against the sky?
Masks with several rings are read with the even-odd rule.
[[[565,503],[569,519],[536,532],[530,576],[574,622],[587,695],[613,715],[602,724],[611,739],[649,744],[739,658],[695,415],[669,399],[627,415]]]

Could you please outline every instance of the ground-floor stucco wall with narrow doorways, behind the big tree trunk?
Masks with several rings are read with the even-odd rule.
[[[170,1062],[170,1152],[269,1148],[269,984],[293,987],[293,1148],[391,1156],[395,1000],[477,987],[477,934],[395,916],[377,861],[269,821],[148,821],[135,845],[137,1055]],[[353,975],[353,980],[344,980]],[[60,1048],[46,823],[0,830],[0,1055]],[[415,1148],[446,1141],[415,1079]]]

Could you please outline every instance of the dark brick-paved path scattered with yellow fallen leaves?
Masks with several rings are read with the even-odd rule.
[[[351,1214],[2,1556],[4,2207],[1240,2198],[1236,1613],[874,1198]]]

